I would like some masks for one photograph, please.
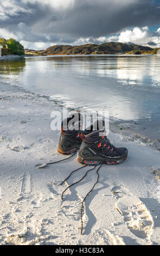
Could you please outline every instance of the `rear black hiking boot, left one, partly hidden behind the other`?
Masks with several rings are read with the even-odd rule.
[[[84,131],[81,130],[83,118],[80,113],[74,113],[62,121],[61,136],[57,151],[61,154],[74,153],[80,148]]]

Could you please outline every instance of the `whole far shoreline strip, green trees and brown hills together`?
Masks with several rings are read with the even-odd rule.
[[[15,39],[0,38],[2,56],[17,54],[25,56],[47,56],[47,55],[80,55],[80,54],[156,54],[158,48],[150,48],[135,44],[123,44],[121,42],[106,42],[105,44],[86,44],[86,45],[54,45],[46,50],[24,49],[23,45]]]

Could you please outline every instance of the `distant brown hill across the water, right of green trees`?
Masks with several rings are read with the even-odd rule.
[[[35,51],[25,49],[25,54],[33,55],[74,55],[74,54],[123,54],[131,51],[152,51],[147,46],[123,44],[121,42],[106,42],[105,44],[86,44],[79,46],[54,45],[46,50]]]

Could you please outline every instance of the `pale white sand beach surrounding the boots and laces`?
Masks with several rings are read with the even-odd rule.
[[[80,205],[97,179],[97,168],[61,201],[67,185],[91,167],[63,186],[60,182],[81,167],[76,156],[35,167],[64,157],[56,151],[60,132],[50,129],[50,114],[60,107],[8,84],[0,83],[0,90],[0,245],[160,245],[158,150],[110,132],[111,142],[126,147],[129,157],[100,169],[80,235]]]

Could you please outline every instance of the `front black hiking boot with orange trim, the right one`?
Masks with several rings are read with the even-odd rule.
[[[91,165],[99,163],[118,164],[126,160],[127,149],[116,148],[110,143],[106,137],[104,121],[95,122],[94,125],[84,131],[84,135],[85,138],[77,157],[80,163]]]

